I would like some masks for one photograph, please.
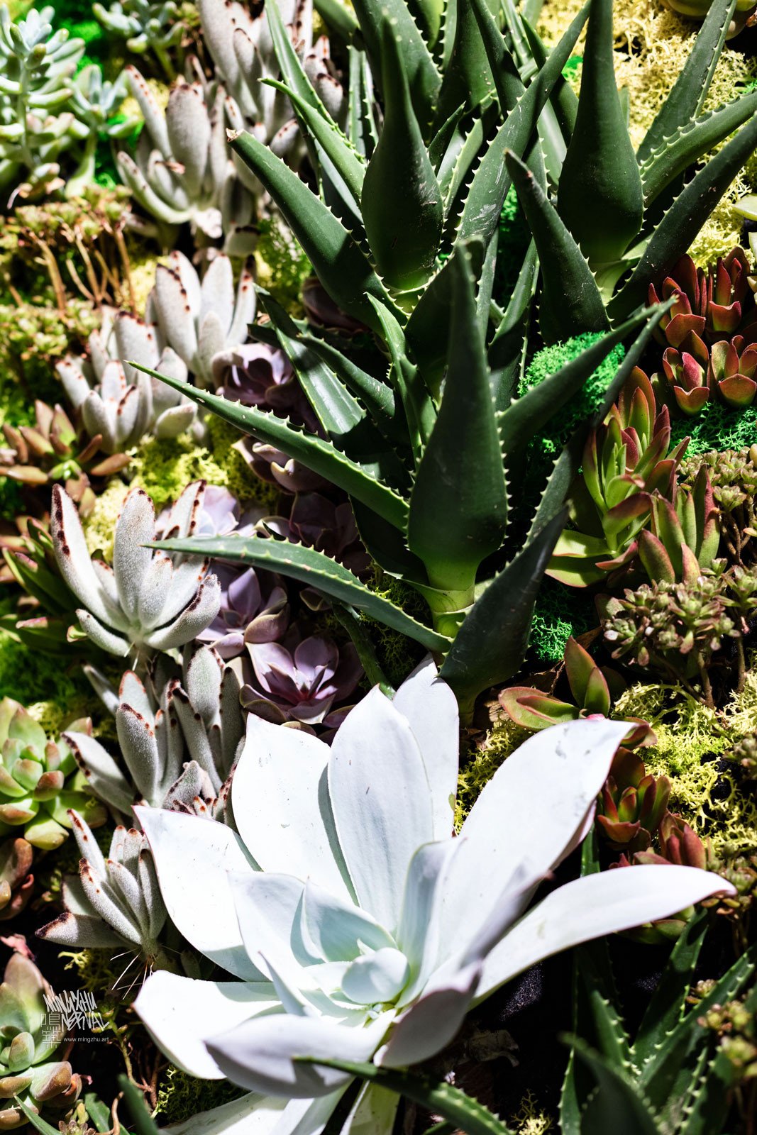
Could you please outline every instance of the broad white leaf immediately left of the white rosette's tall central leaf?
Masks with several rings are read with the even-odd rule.
[[[318,738],[251,714],[232,782],[232,806],[263,871],[312,878],[350,899],[328,798],[329,748]]]

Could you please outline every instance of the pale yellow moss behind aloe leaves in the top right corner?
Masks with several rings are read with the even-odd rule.
[[[539,28],[548,42],[557,42],[580,8],[581,0],[547,0]],[[681,74],[699,24],[678,16],[662,0],[615,0],[614,25],[615,75],[619,86],[629,91],[630,133],[637,146]],[[575,50],[581,52],[582,49],[581,40]],[[715,69],[705,109],[712,110],[731,101],[740,85],[756,77],[757,60],[726,45]],[[579,82],[580,69],[574,79],[577,85]],[[741,219],[733,203],[755,184],[756,175],[757,158],[751,158],[689,250],[697,263],[705,266],[739,243]]]

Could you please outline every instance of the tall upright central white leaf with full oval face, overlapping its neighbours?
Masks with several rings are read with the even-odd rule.
[[[397,792],[397,784],[403,785]],[[375,688],[339,728],[328,764],[339,846],[360,905],[397,925],[417,848],[434,839],[429,781],[406,721]]]

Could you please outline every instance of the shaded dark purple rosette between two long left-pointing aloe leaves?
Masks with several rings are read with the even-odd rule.
[[[370,568],[348,501],[335,504],[320,493],[297,493],[288,518],[267,516],[264,524],[291,544],[304,544],[338,560],[355,575]]]

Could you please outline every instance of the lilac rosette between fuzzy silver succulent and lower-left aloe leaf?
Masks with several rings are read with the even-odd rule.
[[[239,571],[217,563],[213,569],[221,586],[221,605],[210,627],[197,636],[216,647],[224,661],[236,658],[245,642],[275,642],[289,622],[287,594],[278,575]]]

